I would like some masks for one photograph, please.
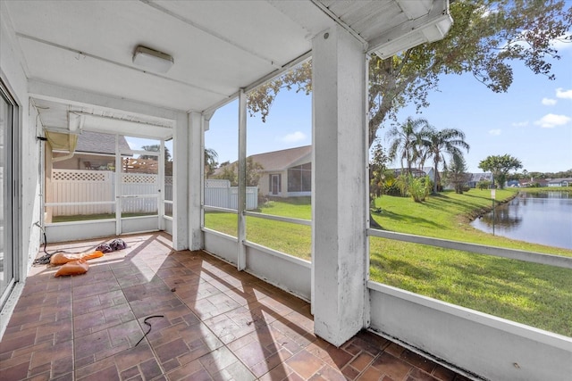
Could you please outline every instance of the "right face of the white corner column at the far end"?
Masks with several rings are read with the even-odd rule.
[[[201,231],[201,200],[203,172],[203,115],[200,112],[189,113],[189,249],[203,248],[203,232]]]

